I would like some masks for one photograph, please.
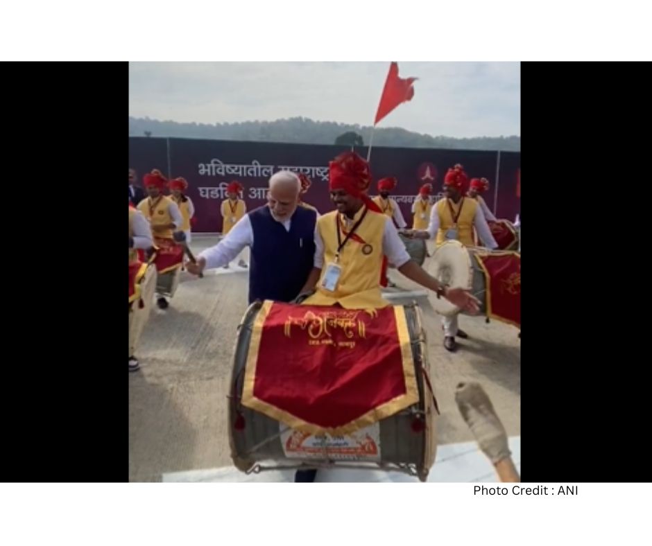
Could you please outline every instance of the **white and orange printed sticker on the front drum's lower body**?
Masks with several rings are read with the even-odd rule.
[[[283,430],[285,425],[280,428]],[[286,430],[281,434],[281,444],[288,459],[380,461],[380,423],[343,436]]]

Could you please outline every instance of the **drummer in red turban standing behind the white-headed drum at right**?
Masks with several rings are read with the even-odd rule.
[[[498,245],[487,224],[478,202],[463,197],[466,193],[468,177],[460,164],[449,168],[444,177],[445,197],[432,207],[427,229],[413,231],[412,236],[420,239],[436,238],[439,247],[447,240],[458,240],[467,247],[473,247],[473,229],[477,231],[486,247],[493,249]],[[457,315],[442,317],[444,327],[444,346],[448,351],[456,349],[455,337],[468,335],[457,326]]]

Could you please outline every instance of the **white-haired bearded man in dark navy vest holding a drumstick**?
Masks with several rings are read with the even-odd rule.
[[[217,245],[187,270],[199,274],[232,261],[251,248],[249,303],[256,299],[292,301],[313,268],[315,211],[298,206],[301,182],[288,170],[269,179],[267,204],[244,215]]]

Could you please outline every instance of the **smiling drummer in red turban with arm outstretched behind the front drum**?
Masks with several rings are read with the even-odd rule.
[[[477,300],[461,288],[447,289],[410,259],[394,224],[367,195],[367,162],[344,152],[329,163],[329,190],[336,210],[321,216],[315,229],[315,261],[303,293],[307,305],[348,309],[384,308],[379,277],[383,256],[398,271],[456,306],[477,312]]]

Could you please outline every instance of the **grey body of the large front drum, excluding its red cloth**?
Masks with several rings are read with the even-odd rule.
[[[418,403],[351,434],[330,437],[294,430],[242,405],[247,360],[253,350],[252,332],[262,306],[256,301],[246,311],[234,351],[228,412],[234,465],[246,473],[335,467],[396,470],[425,481],[436,455],[437,410],[428,379],[427,342],[419,307],[413,304],[401,310],[394,308],[397,314],[404,313],[409,331]],[[291,351],[292,347],[285,350]],[[280,367],[283,364],[279,362]]]

